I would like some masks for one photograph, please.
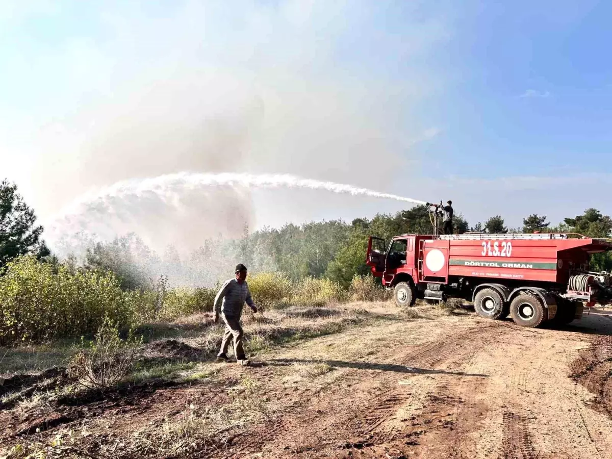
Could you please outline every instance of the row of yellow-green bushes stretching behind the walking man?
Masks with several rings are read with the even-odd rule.
[[[294,281],[278,272],[254,274],[248,283],[264,311],[383,299],[387,294],[373,278],[359,275],[348,288],[326,278]],[[105,320],[125,330],[211,312],[217,290],[217,286],[168,288],[165,283],[154,289],[127,290],[111,271],[70,269],[20,256],[0,276],[0,345],[91,336]]]

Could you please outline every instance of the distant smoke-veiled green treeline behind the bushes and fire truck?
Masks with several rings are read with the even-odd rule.
[[[469,226],[462,215],[455,216],[455,231],[465,233],[533,233],[572,232],[592,237],[609,237],[612,219],[596,209],[583,215],[565,218],[563,223],[550,226],[545,216],[529,215],[522,228],[509,229],[504,219],[495,215]],[[291,280],[307,277],[329,278],[348,286],[355,274],[368,273],[365,265],[368,236],[391,237],[404,233],[430,234],[432,231],[427,207],[416,206],[397,214],[378,214],[374,218],[356,218],[351,223],[329,222],[288,224],[282,228],[264,228],[237,239],[203,241],[201,247],[188,256],[179,256],[176,248],[159,256],[135,234],[113,242],[97,242],[86,250],[86,266],[116,272],[124,288],[138,288],[152,282],[157,274],[168,275],[172,285],[210,286],[231,275],[236,263],[244,263],[252,272],[280,271]],[[612,269],[610,254],[594,256],[593,269]]]

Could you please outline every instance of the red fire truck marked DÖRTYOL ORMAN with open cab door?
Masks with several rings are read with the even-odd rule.
[[[402,234],[389,245],[370,237],[366,261],[397,305],[460,297],[482,317],[537,327],[612,300],[610,273],[589,270],[589,256],[607,250],[611,239],[581,234]]]

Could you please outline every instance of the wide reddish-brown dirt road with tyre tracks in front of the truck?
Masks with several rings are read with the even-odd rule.
[[[305,394],[226,457],[612,458],[612,419],[569,377],[592,371],[579,353],[612,335],[612,315],[575,323],[521,329],[472,315],[321,338],[285,358],[348,368],[341,382]],[[353,339],[376,353],[326,360],[324,349]]]

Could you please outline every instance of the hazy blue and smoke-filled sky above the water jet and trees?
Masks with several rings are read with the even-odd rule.
[[[179,170],[452,198],[472,223],[610,214],[611,17],[604,1],[4,0],[2,173],[43,218]],[[255,226],[401,208],[250,199]]]

